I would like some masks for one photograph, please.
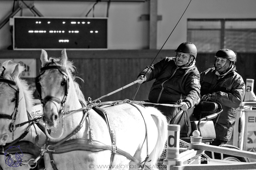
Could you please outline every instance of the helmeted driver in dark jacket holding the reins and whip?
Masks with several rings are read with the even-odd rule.
[[[156,79],[148,95],[149,102],[177,104],[177,101],[182,100],[181,107],[153,105],[167,116],[169,124],[180,109],[194,107],[201,88],[200,74],[195,66],[196,46],[190,42],[181,43],[175,52],[175,58],[166,57],[149,70],[147,66],[138,76],[138,80],[142,79],[139,83]]]

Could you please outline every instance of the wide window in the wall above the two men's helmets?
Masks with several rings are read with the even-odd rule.
[[[198,52],[256,52],[256,19],[188,19],[187,28]]]

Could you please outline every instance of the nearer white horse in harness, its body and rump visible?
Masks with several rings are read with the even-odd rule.
[[[161,112],[153,107],[145,108],[135,104],[137,109],[128,103],[103,107],[108,113],[115,134],[113,145],[105,120],[94,109],[90,109],[90,104],[84,99],[78,83],[74,81],[74,67],[67,60],[66,49],[62,50],[60,58],[49,60],[46,51],[42,50],[41,62],[41,73],[36,83],[44,107],[43,121],[52,130],[49,143],[55,145],[68,138],[66,144],[56,147],[49,145],[49,150],[55,151],[51,152],[52,158],[48,154],[45,155],[46,169],[53,169],[53,161],[59,170],[138,169],[139,164],[120,154],[120,151],[125,151],[144,164],[147,156],[145,122],[149,153],[145,165],[156,169],[155,164],[167,140],[167,121]],[[87,112],[77,110],[82,108],[80,101],[87,106]],[[65,114],[70,110],[76,111]],[[82,128],[73,136],[68,136],[80,124],[84,114],[89,116],[82,122]],[[83,139],[84,142],[81,144],[79,139]],[[104,149],[103,146],[111,147]],[[112,158],[111,148],[116,151],[115,146],[117,152]]]

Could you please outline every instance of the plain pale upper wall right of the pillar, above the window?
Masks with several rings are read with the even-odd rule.
[[[158,0],[157,48],[161,49],[190,0]],[[187,18],[256,18],[255,0],[192,0],[163,49],[176,49],[187,40]]]

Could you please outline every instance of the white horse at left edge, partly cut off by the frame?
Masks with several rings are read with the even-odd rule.
[[[29,120],[28,113],[31,113],[34,105],[33,92],[29,90],[27,82],[19,78],[25,68],[12,61],[5,61],[2,66],[0,68],[0,167],[4,170],[13,170],[14,167],[27,170],[36,166],[33,159],[39,156],[40,145],[44,144],[46,136],[37,125],[31,124],[32,122],[18,126]],[[24,138],[22,139],[21,136]],[[8,149],[9,146],[13,146],[14,149],[19,146],[23,153],[18,150],[18,156],[15,154],[16,151],[9,155],[8,153],[12,152]],[[30,167],[23,164],[26,161],[29,161]]]

